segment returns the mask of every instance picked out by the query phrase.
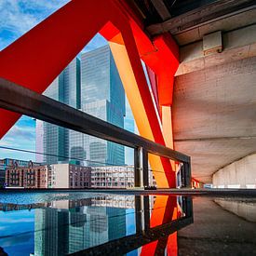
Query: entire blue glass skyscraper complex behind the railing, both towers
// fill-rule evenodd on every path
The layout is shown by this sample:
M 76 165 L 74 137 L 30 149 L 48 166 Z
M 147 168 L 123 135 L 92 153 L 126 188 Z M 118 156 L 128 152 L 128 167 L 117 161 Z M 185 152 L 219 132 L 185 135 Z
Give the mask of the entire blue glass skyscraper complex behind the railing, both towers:
M 125 92 L 109 46 L 74 59 L 44 94 L 124 128 Z M 61 155 L 91 160 L 88 166 L 125 164 L 124 146 L 42 121 L 36 122 L 36 151 L 47 154 L 36 157 L 47 164 L 67 160 Z

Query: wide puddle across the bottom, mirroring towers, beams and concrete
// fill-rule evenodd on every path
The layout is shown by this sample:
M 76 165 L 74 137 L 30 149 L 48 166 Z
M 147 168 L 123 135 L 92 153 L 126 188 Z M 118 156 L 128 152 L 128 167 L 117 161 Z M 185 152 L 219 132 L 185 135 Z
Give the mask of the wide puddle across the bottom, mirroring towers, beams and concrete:
M 44 196 L 0 204 L 0 255 L 256 254 L 253 198 Z

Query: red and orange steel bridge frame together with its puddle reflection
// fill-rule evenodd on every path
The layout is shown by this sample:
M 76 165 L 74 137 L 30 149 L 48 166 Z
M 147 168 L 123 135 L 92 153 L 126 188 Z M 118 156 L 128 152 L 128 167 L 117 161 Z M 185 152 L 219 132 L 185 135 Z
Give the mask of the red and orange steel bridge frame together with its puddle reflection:
M 141 136 L 172 147 L 170 107 L 179 49 L 169 34 L 151 40 L 124 1 L 69 2 L 0 52 L 0 76 L 43 93 L 98 32 L 110 42 Z M 162 123 L 158 122 L 141 60 L 155 74 Z M 0 139 L 19 118 L 19 114 L 0 109 Z M 150 155 L 149 160 L 153 168 L 163 170 L 161 174 L 155 172 L 158 187 L 175 187 L 175 165 L 159 156 Z M 167 202 L 166 197 L 157 196 L 155 204 L 160 204 L 162 209 L 153 211 L 153 226 L 175 218 L 176 205 Z M 176 234 L 169 236 L 170 243 L 174 243 L 174 250 L 168 250 L 177 254 Z M 145 254 L 148 249 L 154 253 L 156 248 L 157 243 L 150 244 L 141 253 Z

